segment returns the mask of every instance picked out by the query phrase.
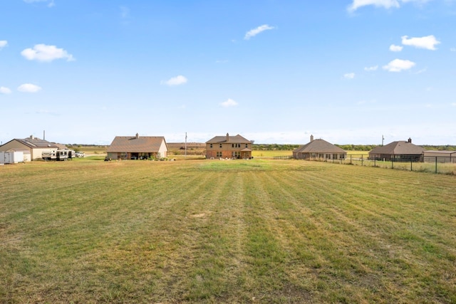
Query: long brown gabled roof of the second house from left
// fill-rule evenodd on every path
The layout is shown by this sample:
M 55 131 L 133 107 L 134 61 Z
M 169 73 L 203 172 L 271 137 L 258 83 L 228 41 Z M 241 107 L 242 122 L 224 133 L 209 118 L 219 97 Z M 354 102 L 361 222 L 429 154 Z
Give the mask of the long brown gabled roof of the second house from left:
M 116 136 L 106 152 L 160 152 L 165 137 L 162 136 Z

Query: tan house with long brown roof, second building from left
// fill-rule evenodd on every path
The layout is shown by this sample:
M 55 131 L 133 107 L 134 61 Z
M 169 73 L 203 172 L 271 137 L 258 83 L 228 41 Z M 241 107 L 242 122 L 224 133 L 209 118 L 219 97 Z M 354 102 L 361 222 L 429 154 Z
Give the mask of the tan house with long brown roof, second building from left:
M 110 159 L 149 159 L 168 156 L 168 146 L 162 136 L 116 136 L 106 150 Z

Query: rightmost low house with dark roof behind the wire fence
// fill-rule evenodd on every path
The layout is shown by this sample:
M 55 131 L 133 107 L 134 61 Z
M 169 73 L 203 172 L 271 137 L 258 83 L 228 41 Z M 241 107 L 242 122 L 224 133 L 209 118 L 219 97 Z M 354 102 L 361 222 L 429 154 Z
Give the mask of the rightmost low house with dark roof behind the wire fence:
M 425 150 L 413 145 L 412 139 L 390 142 L 388 145 L 375 147 L 369 152 L 369 159 L 392 160 L 394 162 L 422 162 Z

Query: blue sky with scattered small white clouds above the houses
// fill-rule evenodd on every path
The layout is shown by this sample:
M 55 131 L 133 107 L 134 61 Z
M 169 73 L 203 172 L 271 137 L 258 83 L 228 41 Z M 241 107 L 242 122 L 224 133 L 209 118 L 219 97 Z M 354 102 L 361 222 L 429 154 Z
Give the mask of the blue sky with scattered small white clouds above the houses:
M 0 141 L 456 145 L 456 0 L 8 0 Z

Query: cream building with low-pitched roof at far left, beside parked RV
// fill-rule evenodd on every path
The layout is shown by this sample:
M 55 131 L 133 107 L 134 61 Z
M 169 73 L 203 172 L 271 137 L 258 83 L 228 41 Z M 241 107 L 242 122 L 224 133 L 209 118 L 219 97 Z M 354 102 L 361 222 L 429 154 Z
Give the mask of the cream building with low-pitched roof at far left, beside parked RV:
M 30 135 L 24 139 L 14 139 L 0 146 L 0 152 L 23 152 L 24 162 L 42 159 L 43 152 L 50 152 L 57 149 L 66 149 L 64 145 L 41 140 Z

